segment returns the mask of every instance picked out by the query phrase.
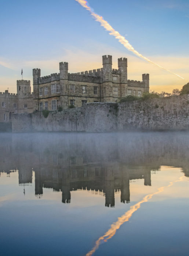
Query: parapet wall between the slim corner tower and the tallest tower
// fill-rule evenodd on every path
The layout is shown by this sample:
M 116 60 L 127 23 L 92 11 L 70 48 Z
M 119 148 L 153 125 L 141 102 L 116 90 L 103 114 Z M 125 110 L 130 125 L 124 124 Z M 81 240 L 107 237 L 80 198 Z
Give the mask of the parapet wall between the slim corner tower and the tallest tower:
M 91 83 L 100 83 L 101 77 L 100 76 L 91 76 L 87 74 L 81 73 L 68 73 L 68 80 L 70 81 L 78 81 L 78 82 L 91 82 Z

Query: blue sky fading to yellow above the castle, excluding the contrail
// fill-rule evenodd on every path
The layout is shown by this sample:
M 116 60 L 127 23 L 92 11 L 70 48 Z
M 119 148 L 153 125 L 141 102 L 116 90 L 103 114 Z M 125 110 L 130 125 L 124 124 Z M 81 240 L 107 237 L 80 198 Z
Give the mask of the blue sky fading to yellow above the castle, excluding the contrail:
M 189 82 L 188 0 L 88 0 L 92 10 L 123 35 L 143 56 L 177 73 L 182 80 L 124 48 L 76 0 L 0 0 L 0 91 L 16 93 L 16 81 L 102 68 L 102 55 L 128 59 L 128 79 L 150 74 L 150 90 L 181 89 Z

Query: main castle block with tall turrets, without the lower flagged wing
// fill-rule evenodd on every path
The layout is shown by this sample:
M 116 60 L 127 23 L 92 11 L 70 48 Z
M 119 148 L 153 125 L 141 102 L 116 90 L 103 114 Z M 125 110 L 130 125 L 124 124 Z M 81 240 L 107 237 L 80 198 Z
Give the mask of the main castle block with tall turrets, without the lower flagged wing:
M 59 73 L 41 77 L 40 69 L 33 69 L 33 90 L 38 111 L 63 109 L 85 103 L 117 102 L 127 95 L 142 96 L 149 92 L 149 74 L 142 82 L 127 80 L 127 59 L 118 59 L 118 69 L 112 69 L 112 56 L 102 56 L 103 68 L 68 73 L 68 62 L 59 63 Z

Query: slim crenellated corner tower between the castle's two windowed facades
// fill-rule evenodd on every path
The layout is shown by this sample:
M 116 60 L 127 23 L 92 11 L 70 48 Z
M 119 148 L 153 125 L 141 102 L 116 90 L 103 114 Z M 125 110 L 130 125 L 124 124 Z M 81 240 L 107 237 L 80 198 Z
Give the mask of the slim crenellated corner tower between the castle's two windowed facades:
M 60 87 L 63 95 L 68 95 L 68 62 L 59 63 L 60 70 Z M 63 108 L 69 106 L 68 96 L 61 96 L 61 103 Z

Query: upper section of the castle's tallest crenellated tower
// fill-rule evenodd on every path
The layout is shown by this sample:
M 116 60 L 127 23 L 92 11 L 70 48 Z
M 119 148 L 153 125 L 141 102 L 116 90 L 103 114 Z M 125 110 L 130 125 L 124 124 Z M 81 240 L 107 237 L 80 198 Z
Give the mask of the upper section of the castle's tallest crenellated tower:
M 112 82 L 112 56 L 102 56 L 103 82 Z

